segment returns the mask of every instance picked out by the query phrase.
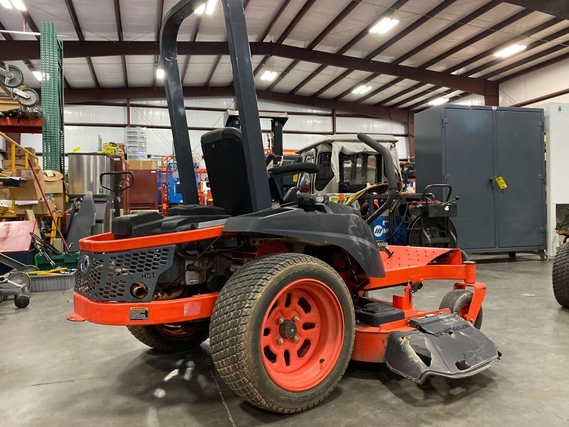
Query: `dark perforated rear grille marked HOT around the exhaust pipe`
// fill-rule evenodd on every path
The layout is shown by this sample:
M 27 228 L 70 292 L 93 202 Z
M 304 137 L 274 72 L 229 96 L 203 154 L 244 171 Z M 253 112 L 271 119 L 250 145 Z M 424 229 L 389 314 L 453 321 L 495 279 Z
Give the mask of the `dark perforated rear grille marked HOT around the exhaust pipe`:
M 144 282 L 149 298 L 152 296 L 156 278 L 172 265 L 174 246 L 105 254 L 81 252 L 80 263 L 84 255 L 89 256 L 90 266 L 85 274 L 75 275 L 77 292 L 102 301 L 131 301 L 129 289 L 135 282 Z

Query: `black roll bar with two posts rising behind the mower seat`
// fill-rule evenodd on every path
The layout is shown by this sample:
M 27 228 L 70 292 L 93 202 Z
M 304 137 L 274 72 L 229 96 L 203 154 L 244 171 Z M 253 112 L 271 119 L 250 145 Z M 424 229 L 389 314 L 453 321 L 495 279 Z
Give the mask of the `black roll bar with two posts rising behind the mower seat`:
M 205 2 L 206 0 L 181 0 L 176 3 L 164 17 L 160 30 L 160 55 L 162 56 L 164 70 L 164 89 L 166 89 L 172 138 L 178 159 L 180 186 L 185 204 L 199 203 L 199 200 L 193 170 L 188 122 L 185 116 L 184 92 L 178 69 L 176 40 L 183 20 L 193 14 Z M 251 67 L 245 11 L 241 0 L 220 0 L 220 2 L 225 17 L 229 57 L 233 69 L 237 109 L 241 118 L 245 164 L 249 177 L 253 210 L 260 211 L 271 207 L 271 196 L 265 167 L 261 122 L 259 121 L 257 93 L 255 92 L 253 68 Z

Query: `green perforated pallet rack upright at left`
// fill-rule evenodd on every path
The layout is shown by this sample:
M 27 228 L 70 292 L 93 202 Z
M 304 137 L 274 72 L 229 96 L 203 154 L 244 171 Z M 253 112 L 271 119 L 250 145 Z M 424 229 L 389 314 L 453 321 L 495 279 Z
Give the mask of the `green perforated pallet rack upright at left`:
M 57 25 L 40 23 L 42 60 L 43 169 L 65 172 L 63 121 L 63 42 L 57 39 Z

